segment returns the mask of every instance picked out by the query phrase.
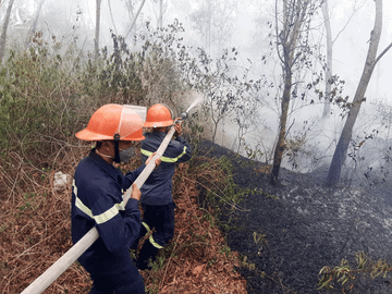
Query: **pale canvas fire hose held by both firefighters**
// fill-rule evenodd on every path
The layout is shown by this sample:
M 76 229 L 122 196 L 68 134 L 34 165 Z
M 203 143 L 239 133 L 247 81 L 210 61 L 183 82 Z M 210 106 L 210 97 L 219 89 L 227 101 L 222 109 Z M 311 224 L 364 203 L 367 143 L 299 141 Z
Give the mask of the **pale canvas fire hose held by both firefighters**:
M 181 118 L 175 123 L 186 120 L 188 117 L 187 112 L 181 113 Z M 143 172 L 135 180 L 135 184 L 138 188 L 143 186 L 147 177 L 156 168 L 156 159 L 161 158 L 171 138 L 174 135 L 175 128 L 170 127 L 161 145 L 159 146 L 156 155 L 152 157 L 150 162 L 146 166 Z M 131 198 L 132 186 L 125 192 L 123 196 L 124 206 L 126 206 Z M 57 278 L 59 278 L 76 259 L 88 249 L 89 246 L 99 237 L 98 230 L 94 226 L 89 230 L 76 244 L 74 244 L 62 257 L 60 257 L 50 268 L 48 268 L 41 275 L 39 275 L 33 283 L 30 283 L 21 294 L 35 294 L 42 293 Z

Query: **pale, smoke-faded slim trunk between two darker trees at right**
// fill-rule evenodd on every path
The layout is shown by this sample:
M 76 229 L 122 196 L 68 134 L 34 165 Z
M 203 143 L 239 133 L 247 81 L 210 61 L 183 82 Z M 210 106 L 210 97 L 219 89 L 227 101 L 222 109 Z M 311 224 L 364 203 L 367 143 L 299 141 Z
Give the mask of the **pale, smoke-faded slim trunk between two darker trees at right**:
M 326 94 L 324 94 L 324 107 L 322 111 L 322 118 L 326 118 L 331 111 L 331 84 L 329 83 L 332 77 L 332 33 L 331 23 L 328 12 L 328 0 L 321 4 L 322 16 L 324 20 L 326 33 L 327 33 L 327 69 L 326 69 Z

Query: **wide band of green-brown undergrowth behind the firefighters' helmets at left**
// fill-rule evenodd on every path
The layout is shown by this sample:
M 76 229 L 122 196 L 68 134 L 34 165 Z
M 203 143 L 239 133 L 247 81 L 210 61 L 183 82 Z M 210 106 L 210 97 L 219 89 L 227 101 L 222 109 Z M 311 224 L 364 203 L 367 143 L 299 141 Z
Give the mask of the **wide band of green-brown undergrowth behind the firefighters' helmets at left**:
M 173 57 L 163 51 L 174 46 L 171 38 L 176 29 L 162 30 L 169 37 L 157 35 L 161 42 L 154 44 L 154 49 L 146 45 L 140 52 L 131 52 L 113 34 L 113 51 L 103 48 L 98 59 L 72 45 L 60 50 L 54 36 L 53 44 L 48 44 L 41 34 L 28 51 L 11 51 L 0 69 L 0 148 L 22 152 L 32 161 L 48 150 L 64 156 L 62 143 L 72 142 L 98 107 L 109 102 L 149 106 L 157 97 L 172 100 L 161 94 L 176 93 L 181 83 Z M 166 85 L 172 85 L 170 90 Z M 154 87 L 159 94 L 154 94 Z

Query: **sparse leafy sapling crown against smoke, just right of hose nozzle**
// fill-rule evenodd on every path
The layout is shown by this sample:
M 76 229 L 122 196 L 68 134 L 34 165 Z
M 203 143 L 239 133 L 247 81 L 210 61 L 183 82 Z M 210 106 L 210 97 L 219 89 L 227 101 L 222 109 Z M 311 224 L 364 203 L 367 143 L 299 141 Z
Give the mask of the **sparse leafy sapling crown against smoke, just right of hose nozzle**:
M 259 124 L 257 117 L 264 100 L 261 90 L 268 83 L 265 76 L 256 81 L 249 78 L 249 68 L 237 68 L 238 57 L 235 48 L 224 49 L 218 59 L 211 59 L 203 48 L 197 49 L 194 88 L 201 93 L 203 112 L 213 123 L 212 142 L 224 119 L 238 126 L 238 139 Z

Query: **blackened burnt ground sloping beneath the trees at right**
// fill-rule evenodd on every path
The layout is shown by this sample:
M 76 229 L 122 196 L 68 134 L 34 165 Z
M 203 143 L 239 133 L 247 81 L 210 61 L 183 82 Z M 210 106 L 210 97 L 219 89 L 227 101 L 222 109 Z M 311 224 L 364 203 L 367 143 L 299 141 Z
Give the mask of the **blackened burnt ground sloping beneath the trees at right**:
M 248 293 L 392 293 L 391 275 L 357 275 L 333 290 L 318 290 L 319 271 L 342 259 L 356 268 L 356 253 L 391 264 L 392 198 L 389 183 L 363 187 L 326 187 L 324 174 L 281 169 L 280 183 L 269 184 L 262 164 L 229 149 L 204 144 L 213 157 L 226 156 L 244 197 L 244 210 L 225 210 L 219 219 L 228 245 L 249 265 L 241 274 Z M 212 148 L 212 149 L 211 149 Z M 365 179 L 365 177 L 364 177 Z M 255 265 L 253 268 L 252 264 Z M 353 285 L 354 284 L 354 285 Z

